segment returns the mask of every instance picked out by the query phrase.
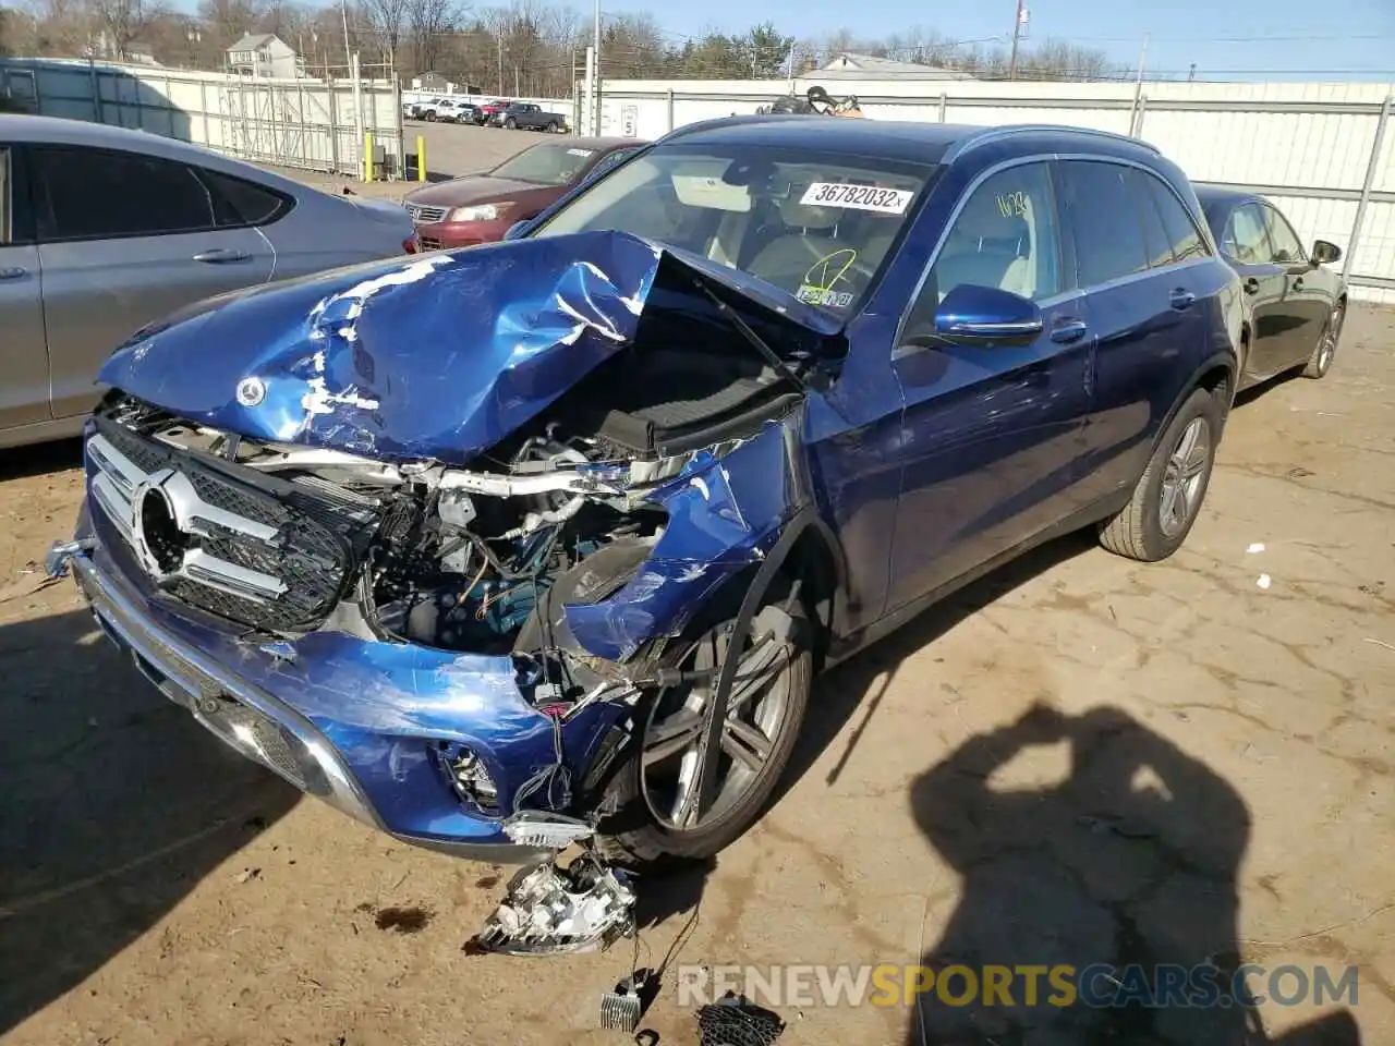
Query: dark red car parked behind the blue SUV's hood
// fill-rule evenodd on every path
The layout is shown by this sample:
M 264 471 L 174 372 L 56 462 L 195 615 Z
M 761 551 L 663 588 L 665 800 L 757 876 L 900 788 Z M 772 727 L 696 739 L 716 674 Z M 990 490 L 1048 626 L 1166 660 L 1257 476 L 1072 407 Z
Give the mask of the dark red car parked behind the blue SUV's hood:
M 635 138 L 568 138 L 540 142 L 484 174 L 466 174 L 403 198 L 423 250 L 502 240 L 509 226 L 534 218 L 564 192 L 600 176 L 646 142 Z

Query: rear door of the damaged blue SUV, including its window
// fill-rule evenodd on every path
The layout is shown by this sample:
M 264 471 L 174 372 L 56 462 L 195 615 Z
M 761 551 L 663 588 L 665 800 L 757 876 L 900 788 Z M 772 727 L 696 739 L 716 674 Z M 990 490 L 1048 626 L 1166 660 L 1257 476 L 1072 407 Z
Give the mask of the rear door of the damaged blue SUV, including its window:
M 1106 158 L 1060 169 L 1094 338 L 1081 463 L 1091 503 L 1137 483 L 1177 396 L 1179 358 L 1205 336 L 1205 305 L 1194 272 L 1175 261 L 1154 174 Z M 1165 183 L 1156 190 L 1176 199 Z

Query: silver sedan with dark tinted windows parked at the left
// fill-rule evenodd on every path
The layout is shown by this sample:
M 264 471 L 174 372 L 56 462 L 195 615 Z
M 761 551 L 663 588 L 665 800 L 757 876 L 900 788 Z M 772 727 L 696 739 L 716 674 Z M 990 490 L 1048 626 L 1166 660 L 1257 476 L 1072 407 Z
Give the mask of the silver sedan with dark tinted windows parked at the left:
M 80 432 L 112 346 L 190 301 L 416 248 L 389 201 L 142 131 L 0 116 L 0 446 Z

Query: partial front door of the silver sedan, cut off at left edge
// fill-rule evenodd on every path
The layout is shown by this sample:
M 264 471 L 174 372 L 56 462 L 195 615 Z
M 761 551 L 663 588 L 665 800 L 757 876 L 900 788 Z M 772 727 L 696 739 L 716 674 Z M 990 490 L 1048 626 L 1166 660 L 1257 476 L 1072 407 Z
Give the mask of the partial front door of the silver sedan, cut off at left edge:
M 0 428 L 50 417 L 42 287 L 24 155 L 0 144 Z

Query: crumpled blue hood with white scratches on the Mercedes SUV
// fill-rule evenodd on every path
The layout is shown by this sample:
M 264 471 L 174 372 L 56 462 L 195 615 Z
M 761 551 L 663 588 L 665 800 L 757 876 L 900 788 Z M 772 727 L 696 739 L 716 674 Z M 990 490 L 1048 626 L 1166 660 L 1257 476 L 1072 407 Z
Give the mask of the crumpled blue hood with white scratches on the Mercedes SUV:
M 841 328 L 706 259 L 578 233 L 223 294 L 138 332 L 99 381 L 246 437 L 465 463 L 632 344 L 646 310 L 710 311 L 695 278 L 777 350 Z

